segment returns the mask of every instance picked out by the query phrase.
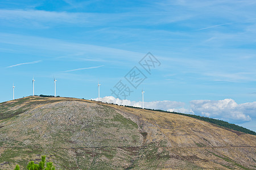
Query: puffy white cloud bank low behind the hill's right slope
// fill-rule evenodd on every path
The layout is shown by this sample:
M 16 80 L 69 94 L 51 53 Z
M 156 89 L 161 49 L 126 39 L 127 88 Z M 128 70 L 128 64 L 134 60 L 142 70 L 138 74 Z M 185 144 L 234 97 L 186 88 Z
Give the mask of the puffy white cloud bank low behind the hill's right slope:
M 91 99 L 98 100 L 98 98 Z M 101 97 L 100 101 L 106 103 L 114 103 L 118 105 L 130 105 L 142 108 L 142 101 L 130 101 L 115 98 L 113 96 Z M 200 116 L 217 118 L 227 122 L 235 122 L 236 124 L 246 124 L 251 121 L 251 117 L 255 117 L 254 111 L 256 101 L 252 103 L 237 104 L 232 99 L 224 100 L 192 100 L 190 105 L 178 101 L 148 101 L 144 102 L 144 107 L 148 109 L 160 109 L 168 112 L 178 112 L 185 114 L 197 114 Z M 213 112 L 212 112 L 213 111 Z M 249 129 L 256 130 L 256 125 L 251 124 Z

